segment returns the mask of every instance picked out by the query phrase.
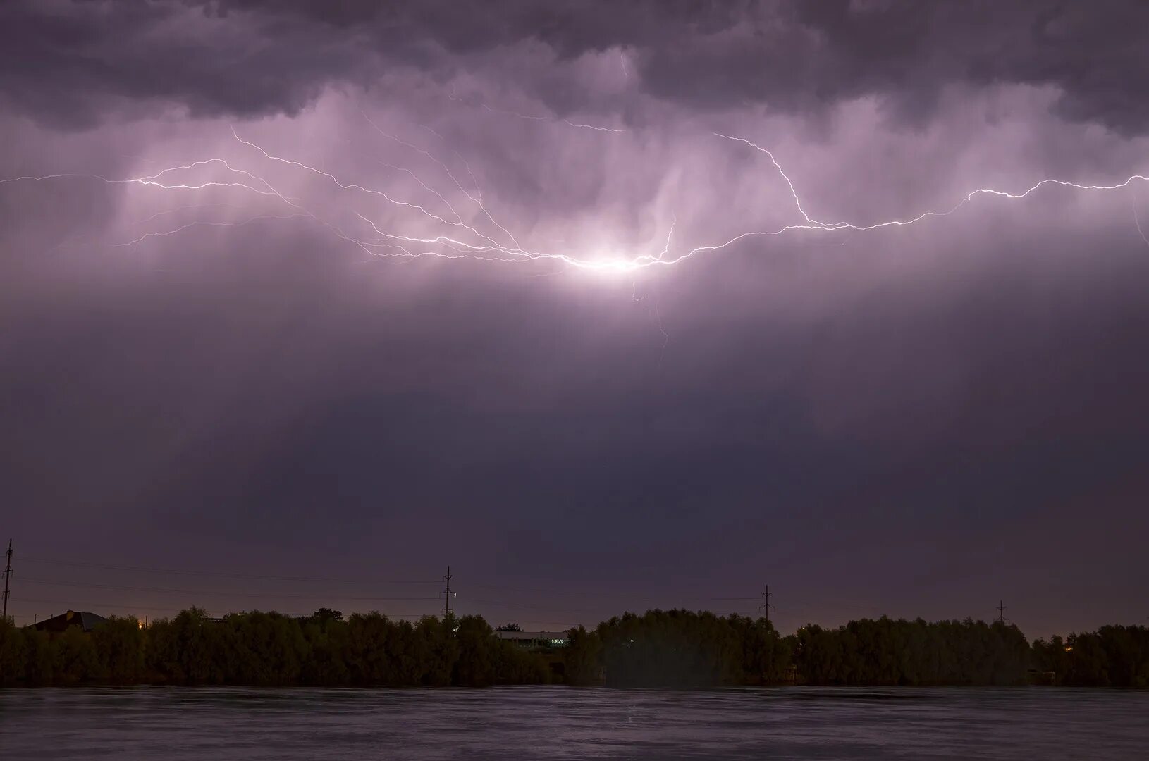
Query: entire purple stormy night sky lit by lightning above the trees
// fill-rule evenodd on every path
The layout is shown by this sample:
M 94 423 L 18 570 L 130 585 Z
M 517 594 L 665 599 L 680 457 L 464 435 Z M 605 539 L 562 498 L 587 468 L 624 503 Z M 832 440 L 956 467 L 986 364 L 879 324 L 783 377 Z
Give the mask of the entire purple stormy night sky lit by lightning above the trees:
M 1146 30 L 3 2 L 9 612 L 1144 622 Z

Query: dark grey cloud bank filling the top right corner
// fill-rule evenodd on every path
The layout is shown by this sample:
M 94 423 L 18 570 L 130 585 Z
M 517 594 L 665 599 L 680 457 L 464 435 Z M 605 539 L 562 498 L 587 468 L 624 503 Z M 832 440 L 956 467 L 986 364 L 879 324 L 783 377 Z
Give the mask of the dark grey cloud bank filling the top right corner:
M 1125 0 L 793 2 L 651 45 L 643 75 L 654 94 L 711 107 L 803 111 L 877 95 L 916 121 L 947 86 L 1048 85 L 1063 117 L 1140 133 L 1147 25 L 1149 7 Z

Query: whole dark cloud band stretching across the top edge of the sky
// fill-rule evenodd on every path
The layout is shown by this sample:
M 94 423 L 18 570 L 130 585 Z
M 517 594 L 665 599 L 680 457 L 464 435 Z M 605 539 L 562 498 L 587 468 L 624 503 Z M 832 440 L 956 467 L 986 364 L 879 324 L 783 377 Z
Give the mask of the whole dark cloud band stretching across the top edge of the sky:
M 386 72 L 448 77 L 538 41 L 558 75 L 523 86 L 558 112 L 614 108 L 558 85 L 563 61 L 626 47 L 649 94 L 696 107 L 816 112 L 876 95 L 928 118 L 948 86 L 1059 92 L 1056 112 L 1123 133 L 1149 126 L 1149 7 L 1098 2 L 268 2 L 21 0 L 0 9 L 0 91 L 39 119 L 87 125 L 108 96 L 192 115 L 296 112 L 324 86 Z M 506 76 L 506 73 L 503 75 Z M 154 104 L 153 104 L 154 106 Z

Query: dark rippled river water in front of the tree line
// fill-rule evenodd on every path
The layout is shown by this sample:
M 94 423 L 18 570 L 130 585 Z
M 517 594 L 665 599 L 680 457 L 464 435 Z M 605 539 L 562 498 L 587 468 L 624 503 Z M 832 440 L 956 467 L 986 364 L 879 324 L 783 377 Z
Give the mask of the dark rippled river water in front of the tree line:
M 1149 692 L 0 690 L 0 758 L 1149 759 Z

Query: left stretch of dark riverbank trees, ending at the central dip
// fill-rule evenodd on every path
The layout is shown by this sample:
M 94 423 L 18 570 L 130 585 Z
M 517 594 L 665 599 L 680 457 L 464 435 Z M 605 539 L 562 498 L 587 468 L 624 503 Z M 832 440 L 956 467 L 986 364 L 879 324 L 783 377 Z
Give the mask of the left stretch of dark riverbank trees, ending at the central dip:
M 217 621 L 190 608 L 147 628 L 111 618 L 91 634 L 59 635 L 0 623 L 0 684 L 486 686 L 546 683 L 549 671 L 478 616 L 411 623 L 321 609 Z

